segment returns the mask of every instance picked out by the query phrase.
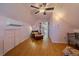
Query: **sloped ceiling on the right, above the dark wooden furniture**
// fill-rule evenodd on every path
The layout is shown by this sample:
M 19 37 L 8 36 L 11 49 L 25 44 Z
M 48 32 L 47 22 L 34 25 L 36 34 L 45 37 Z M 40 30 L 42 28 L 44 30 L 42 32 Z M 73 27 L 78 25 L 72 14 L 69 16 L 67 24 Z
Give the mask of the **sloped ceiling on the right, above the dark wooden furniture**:
M 71 25 L 73 28 L 79 28 L 79 4 L 78 3 L 60 3 L 60 4 L 50 4 L 54 6 L 54 12 L 59 11 L 63 13 L 63 22 Z M 53 13 L 54 15 L 54 13 Z

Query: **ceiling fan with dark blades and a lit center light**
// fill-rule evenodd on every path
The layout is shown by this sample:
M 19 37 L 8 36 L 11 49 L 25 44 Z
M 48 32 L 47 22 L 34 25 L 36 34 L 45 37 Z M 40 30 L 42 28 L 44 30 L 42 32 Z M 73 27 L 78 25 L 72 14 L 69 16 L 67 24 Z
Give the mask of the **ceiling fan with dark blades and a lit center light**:
M 38 14 L 40 12 L 43 12 L 44 15 L 46 15 L 46 11 L 54 10 L 54 7 L 46 7 L 46 6 L 47 6 L 47 3 L 42 3 L 38 7 L 37 6 L 34 6 L 34 5 L 31 5 L 32 8 L 37 9 L 37 11 L 35 12 L 35 14 Z

